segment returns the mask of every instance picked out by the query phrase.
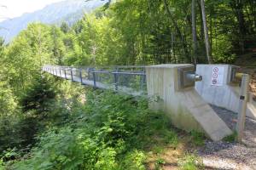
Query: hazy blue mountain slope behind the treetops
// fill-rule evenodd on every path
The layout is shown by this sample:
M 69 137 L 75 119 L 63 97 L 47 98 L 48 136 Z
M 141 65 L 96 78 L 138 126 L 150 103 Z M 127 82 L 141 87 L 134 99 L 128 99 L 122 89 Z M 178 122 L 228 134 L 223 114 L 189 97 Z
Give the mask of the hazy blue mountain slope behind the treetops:
M 73 22 L 82 18 L 84 13 L 90 13 L 107 2 L 108 0 L 91 0 L 89 2 L 65 0 L 60 3 L 52 3 L 33 13 L 23 14 L 15 19 L 0 22 L 0 37 L 3 37 L 6 42 L 10 42 L 32 22 L 59 24 L 61 21 L 67 21 L 69 24 L 73 24 Z

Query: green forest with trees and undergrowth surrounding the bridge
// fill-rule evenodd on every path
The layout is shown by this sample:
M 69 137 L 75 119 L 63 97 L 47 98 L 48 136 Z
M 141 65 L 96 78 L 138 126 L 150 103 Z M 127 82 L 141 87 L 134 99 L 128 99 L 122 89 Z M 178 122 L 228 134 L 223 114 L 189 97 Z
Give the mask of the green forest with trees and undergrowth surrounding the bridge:
M 201 133 L 172 127 L 143 98 L 84 88 L 42 67 L 235 64 L 255 54 L 255 0 L 202 2 L 109 1 L 73 26 L 32 23 L 12 42 L 1 38 L 0 169 L 161 169 L 165 147 L 201 145 Z M 194 152 L 176 158 L 179 169 L 203 169 Z

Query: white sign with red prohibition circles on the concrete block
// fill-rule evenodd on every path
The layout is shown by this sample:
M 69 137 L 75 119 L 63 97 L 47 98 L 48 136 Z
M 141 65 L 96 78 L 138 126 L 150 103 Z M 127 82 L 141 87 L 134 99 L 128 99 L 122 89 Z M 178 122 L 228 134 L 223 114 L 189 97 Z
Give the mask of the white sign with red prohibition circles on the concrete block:
M 224 66 L 215 66 L 212 68 L 212 86 L 223 86 Z

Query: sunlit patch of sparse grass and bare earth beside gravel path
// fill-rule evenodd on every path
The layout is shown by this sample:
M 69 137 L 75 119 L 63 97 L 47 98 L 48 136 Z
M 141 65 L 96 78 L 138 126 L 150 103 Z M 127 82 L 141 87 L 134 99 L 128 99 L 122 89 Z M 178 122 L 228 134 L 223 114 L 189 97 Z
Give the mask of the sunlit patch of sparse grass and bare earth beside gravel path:
M 164 140 L 154 144 L 154 148 L 149 149 L 147 153 L 147 169 L 177 169 L 177 170 L 194 170 L 204 169 L 201 159 L 194 151 L 198 145 L 204 144 L 204 135 L 201 133 L 185 133 L 181 130 L 175 131 L 177 140 L 175 147 L 170 143 L 163 143 Z

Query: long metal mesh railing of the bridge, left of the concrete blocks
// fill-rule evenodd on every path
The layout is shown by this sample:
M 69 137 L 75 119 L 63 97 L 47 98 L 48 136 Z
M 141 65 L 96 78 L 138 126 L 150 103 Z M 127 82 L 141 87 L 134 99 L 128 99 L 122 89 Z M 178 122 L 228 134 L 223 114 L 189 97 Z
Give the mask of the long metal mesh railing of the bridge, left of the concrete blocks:
M 145 66 L 95 68 L 44 65 L 43 71 L 94 88 L 113 89 L 131 95 L 147 93 Z

